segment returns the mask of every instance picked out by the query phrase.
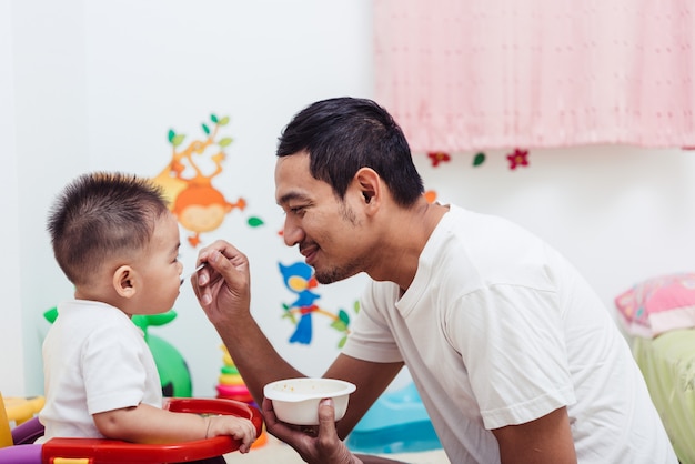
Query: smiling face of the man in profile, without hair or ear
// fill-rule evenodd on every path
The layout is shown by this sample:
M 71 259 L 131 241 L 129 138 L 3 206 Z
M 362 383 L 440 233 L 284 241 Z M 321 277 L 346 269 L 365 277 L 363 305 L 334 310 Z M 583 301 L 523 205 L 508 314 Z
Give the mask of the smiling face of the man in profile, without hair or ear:
M 340 201 L 331 185 L 314 179 L 308 154 L 278 158 L 275 200 L 285 212 L 284 241 L 288 246 L 299 245 L 321 283 L 364 271 L 360 246 L 363 219 L 360 209 L 351 206 L 353 195 L 349 189 L 344 201 Z

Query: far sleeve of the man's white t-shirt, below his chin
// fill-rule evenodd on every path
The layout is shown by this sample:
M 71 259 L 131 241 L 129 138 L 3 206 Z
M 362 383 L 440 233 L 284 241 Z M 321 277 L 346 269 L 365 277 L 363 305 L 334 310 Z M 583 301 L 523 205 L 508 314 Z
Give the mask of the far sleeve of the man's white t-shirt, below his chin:
M 402 362 L 403 356 L 391 334 L 381 304 L 393 304 L 392 285 L 371 282 L 361 300 L 360 313 L 352 323 L 343 353 L 359 360 L 376 363 Z

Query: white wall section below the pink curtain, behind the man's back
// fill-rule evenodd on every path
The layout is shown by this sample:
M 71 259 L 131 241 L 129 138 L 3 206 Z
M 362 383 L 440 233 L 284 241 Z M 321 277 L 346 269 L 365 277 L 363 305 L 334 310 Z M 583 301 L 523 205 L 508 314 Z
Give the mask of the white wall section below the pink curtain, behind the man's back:
M 510 150 L 511 151 L 511 150 Z M 562 251 L 606 305 L 634 283 L 695 270 L 695 152 L 577 147 L 531 150 L 508 169 L 506 151 L 473 153 L 432 168 L 425 186 L 469 209 L 508 218 Z

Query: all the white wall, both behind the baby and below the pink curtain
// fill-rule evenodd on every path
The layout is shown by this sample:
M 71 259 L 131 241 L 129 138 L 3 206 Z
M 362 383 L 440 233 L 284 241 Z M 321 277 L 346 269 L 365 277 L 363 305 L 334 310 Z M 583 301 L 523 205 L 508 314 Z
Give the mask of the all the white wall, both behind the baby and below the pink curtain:
M 214 183 L 249 205 L 203 242 L 225 238 L 246 252 L 254 314 L 282 353 L 308 374 L 320 374 L 336 353 L 338 334 L 316 316 L 312 344 L 291 345 L 293 326 L 282 319 L 281 304 L 293 295 L 278 262 L 300 256 L 278 236 L 283 216 L 273 196 L 274 149 L 284 124 L 312 101 L 373 97 L 371 2 L 53 3 L 0 0 L 0 69 L 11 70 L 0 74 L 0 137 L 10 153 L 0 186 L 8 205 L 0 236 L 7 304 L 0 313 L 0 391 L 42 392 L 40 344 L 48 323 L 41 314 L 71 296 L 44 232 L 53 195 L 88 170 L 155 175 L 169 161 L 169 129 L 195 137 L 211 112 L 231 117 L 225 131 L 234 138 Z M 433 168 L 419 153 L 416 163 L 440 200 L 505 215 L 546 238 L 607 306 L 636 281 L 691 270 L 695 153 L 532 150 L 531 165 L 515 171 L 504 151 L 488 152 L 479 168 L 473 154 L 456 153 Z M 246 225 L 251 215 L 265 225 Z M 182 246 L 189 270 L 195 253 Z M 363 282 L 357 276 L 320 288 L 322 306 L 351 312 Z M 188 286 L 175 310 L 179 317 L 152 333 L 182 352 L 194 394 L 212 395 L 219 337 Z

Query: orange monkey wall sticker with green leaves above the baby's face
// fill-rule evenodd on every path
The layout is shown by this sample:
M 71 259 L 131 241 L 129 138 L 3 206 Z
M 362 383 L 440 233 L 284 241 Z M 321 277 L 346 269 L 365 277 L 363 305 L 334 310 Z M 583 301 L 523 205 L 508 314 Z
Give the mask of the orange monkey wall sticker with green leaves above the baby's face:
M 220 129 L 229 123 L 229 117 L 210 115 L 210 122 L 201 124 L 202 137 L 184 144 L 185 135 L 169 131 L 171 160 L 152 181 L 164 190 L 171 211 L 179 223 L 191 232 L 191 246 L 200 244 L 200 234 L 218 229 L 234 208 L 243 210 L 246 201 L 239 198 L 229 202 L 212 185 L 212 179 L 222 173 L 226 148 L 232 138 L 222 137 Z

